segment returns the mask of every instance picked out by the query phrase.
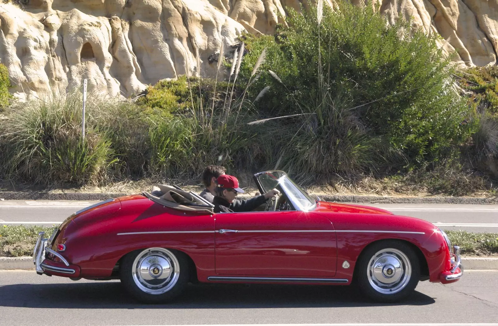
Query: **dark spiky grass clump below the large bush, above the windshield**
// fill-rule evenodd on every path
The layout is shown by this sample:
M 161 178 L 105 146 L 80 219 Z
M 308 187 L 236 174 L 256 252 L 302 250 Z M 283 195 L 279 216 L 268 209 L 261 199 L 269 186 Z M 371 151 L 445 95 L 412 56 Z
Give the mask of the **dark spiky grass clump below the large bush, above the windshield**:
M 305 184 L 329 182 L 337 174 L 354 175 L 392 162 L 397 156 L 388 141 L 371 137 L 351 110 L 351 101 L 327 95 L 321 103 L 301 105 L 306 115 L 277 119 L 259 127 L 266 142 L 264 168 L 282 168 Z

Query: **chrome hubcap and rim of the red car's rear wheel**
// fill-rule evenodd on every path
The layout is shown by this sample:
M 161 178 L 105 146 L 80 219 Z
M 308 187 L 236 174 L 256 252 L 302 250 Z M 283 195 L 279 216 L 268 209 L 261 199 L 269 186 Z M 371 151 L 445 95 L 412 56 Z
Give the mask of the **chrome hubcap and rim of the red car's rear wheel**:
M 140 290 L 148 294 L 162 294 L 178 281 L 180 264 L 171 251 L 149 248 L 136 256 L 131 273 Z

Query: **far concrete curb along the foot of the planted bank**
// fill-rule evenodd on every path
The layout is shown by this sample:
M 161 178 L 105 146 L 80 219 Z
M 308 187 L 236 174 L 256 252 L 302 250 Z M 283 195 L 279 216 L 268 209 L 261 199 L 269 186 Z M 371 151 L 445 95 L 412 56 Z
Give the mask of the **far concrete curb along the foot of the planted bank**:
M 100 193 L 100 192 L 63 192 L 63 191 L 0 191 L 0 198 L 4 200 L 106 200 L 128 195 L 129 193 Z M 498 204 L 498 196 L 494 197 L 396 197 L 370 195 L 319 195 L 321 200 L 358 203 L 387 203 L 387 204 Z M 317 195 L 313 195 L 317 198 Z M 240 199 L 250 196 L 241 195 Z

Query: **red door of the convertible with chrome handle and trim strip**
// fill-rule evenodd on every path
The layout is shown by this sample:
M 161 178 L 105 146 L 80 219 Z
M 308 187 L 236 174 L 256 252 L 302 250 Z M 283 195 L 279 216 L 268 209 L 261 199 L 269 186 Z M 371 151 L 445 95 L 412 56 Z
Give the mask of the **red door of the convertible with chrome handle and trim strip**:
M 336 273 L 334 226 L 312 211 L 217 213 L 215 230 L 219 275 L 329 277 Z

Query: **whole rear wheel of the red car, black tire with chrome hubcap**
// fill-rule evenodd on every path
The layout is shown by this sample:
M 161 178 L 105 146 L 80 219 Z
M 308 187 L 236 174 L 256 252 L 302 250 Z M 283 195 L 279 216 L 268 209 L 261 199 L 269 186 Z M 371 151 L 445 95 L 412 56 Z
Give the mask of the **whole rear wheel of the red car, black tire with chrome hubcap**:
M 140 265 L 146 269 L 140 270 Z M 165 248 L 135 250 L 124 256 L 120 279 L 136 300 L 167 303 L 176 298 L 188 283 L 188 260 L 184 253 Z

